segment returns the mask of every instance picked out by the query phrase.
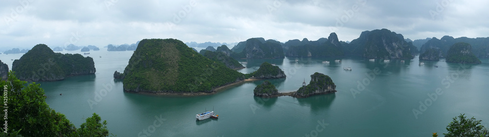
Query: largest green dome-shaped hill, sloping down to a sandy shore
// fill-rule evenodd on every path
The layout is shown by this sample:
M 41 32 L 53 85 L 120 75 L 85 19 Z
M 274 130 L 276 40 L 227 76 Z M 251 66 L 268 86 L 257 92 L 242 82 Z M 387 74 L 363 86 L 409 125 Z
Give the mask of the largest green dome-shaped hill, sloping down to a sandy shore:
M 124 73 L 126 92 L 211 92 L 244 75 L 207 59 L 177 39 L 143 39 Z

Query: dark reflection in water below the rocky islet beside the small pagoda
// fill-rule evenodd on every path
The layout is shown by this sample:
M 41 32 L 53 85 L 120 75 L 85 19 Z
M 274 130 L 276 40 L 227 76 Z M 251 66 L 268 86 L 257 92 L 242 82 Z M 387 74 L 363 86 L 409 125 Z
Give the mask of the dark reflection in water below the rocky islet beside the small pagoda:
M 334 98 L 336 98 L 336 94 L 332 93 L 316 95 L 309 98 L 297 98 L 297 101 L 299 101 L 299 105 L 309 106 L 311 107 L 312 112 L 317 113 L 323 109 L 329 108 L 333 103 Z

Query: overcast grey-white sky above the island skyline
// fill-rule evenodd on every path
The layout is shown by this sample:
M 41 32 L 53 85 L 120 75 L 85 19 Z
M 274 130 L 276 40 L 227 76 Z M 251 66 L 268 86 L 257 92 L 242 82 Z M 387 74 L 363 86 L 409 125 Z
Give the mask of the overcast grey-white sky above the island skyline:
M 343 41 L 387 28 L 410 39 L 489 37 L 488 0 L 2 0 L 0 50 L 150 38 Z

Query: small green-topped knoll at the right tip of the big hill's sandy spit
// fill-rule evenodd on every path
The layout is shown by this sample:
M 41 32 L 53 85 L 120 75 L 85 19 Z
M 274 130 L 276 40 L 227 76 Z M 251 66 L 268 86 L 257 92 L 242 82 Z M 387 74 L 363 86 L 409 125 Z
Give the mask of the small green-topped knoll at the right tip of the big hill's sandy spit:
M 268 62 L 263 62 L 257 71 L 245 74 L 245 78 L 285 78 L 287 77 L 278 66 L 274 66 Z

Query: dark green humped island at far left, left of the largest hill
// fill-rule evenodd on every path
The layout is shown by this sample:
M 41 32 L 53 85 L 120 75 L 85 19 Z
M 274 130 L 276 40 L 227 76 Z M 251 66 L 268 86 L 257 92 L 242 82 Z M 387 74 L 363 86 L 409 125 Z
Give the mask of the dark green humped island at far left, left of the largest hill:
M 53 81 L 68 76 L 94 74 L 91 57 L 80 54 L 54 53 L 47 45 L 38 44 L 12 63 L 12 71 L 21 80 Z

